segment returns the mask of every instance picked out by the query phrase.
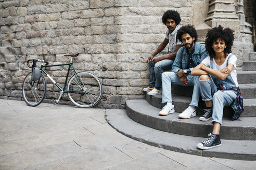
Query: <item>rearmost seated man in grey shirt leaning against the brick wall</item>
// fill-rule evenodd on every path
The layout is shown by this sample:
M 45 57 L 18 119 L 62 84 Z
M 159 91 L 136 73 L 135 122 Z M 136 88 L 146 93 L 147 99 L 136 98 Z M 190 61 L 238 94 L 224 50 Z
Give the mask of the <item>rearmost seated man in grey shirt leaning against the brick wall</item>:
M 176 52 L 182 47 L 180 40 L 176 38 L 176 34 L 180 27 L 178 24 L 181 22 L 180 14 L 174 10 L 164 12 L 162 16 L 162 23 L 167 26 L 165 38 L 158 46 L 157 50 L 148 58 L 150 83 L 149 87 L 144 88 L 144 91 L 149 91 L 149 95 L 156 95 L 162 93 L 162 79 L 161 75 L 165 70 L 171 70 L 174 62 Z M 160 53 L 169 43 L 168 55 L 156 56 Z

